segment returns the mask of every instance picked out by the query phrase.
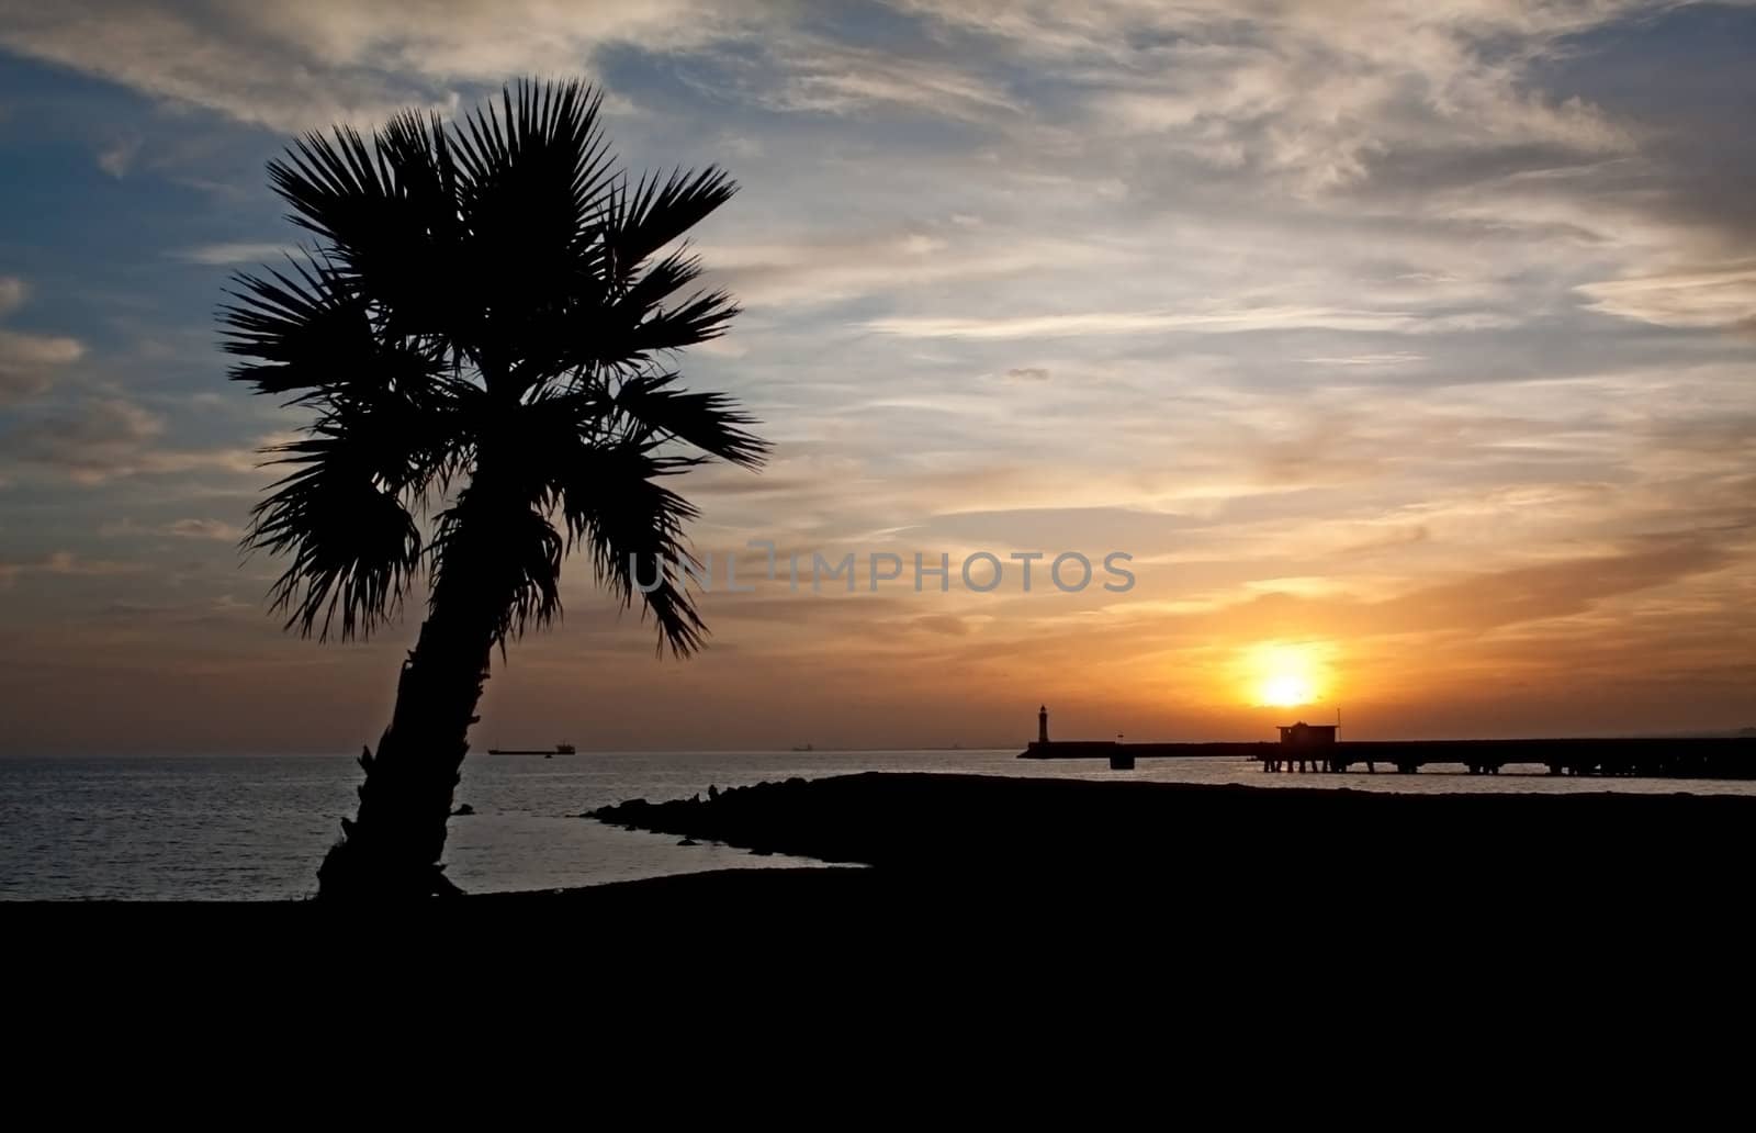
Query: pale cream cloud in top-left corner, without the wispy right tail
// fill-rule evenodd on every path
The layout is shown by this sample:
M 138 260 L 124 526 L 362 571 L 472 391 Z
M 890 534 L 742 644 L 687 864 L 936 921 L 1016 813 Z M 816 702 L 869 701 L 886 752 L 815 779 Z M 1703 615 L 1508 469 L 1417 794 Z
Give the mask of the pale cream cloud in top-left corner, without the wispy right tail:
M 706 0 L 0 0 L 0 46 L 276 130 L 446 109 L 458 86 L 571 76 L 618 44 L 688 49 L 760 16 Z

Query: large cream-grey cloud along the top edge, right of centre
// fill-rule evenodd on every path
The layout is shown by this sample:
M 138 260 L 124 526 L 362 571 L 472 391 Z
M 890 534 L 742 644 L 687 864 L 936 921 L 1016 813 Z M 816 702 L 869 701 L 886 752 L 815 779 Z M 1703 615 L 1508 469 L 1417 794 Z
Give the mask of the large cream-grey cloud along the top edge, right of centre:
M 1582 162 L 1633 146 L 1598 107 L 1545 98 L 1526 81 L 1533 61 L 1619 19 L 1631 0 L 908 7 L 1018 67 L 1071 79 L 1080 126 L 1112 144 L 1245 170 L 1303 195 L 1345 191 L 1410 155 L 1540 146 Z

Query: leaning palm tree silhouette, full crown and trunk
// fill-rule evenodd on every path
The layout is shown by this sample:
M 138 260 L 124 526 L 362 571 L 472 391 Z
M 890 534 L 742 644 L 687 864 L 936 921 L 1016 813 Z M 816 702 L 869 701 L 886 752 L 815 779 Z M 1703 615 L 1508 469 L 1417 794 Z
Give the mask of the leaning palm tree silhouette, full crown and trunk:
M 639 594 L 660 653 L 702 645 L 676 571 L 695 509 L 666 481 L 715 457 L 753 469 L 767 446 L 667 362 L 738 313 L 692 288 L 680 242 L 736 186 L 713 167 L 630 184 L 599 107 L 525 81 L 451 125 L 337 126 L 269 163 L 314 246 L 237 274 L 220 318 L 232 378 L 311 420 L 269 450 L 290 471 L 244 546 L 290 557 L 270 603 L 320 639 L 369 636 L 427 585 L 320 896 L 457 892 L 439 855 L 492 653 L 560 615 L 574 548 L 623 608 Z

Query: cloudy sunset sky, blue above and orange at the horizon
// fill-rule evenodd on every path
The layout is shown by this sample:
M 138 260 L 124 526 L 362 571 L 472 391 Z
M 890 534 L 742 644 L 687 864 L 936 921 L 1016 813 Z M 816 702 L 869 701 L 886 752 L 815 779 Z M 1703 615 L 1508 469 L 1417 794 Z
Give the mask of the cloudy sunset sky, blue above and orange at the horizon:
M 1751 58 L 1744 4 L 0 0 L 0 754 L 376 743 L 418 606 L 267 613 L 300 418 L 214 307 L 293 134 L 525 74 L 739 181 L 680 369 L 774 457 L 687 481 L 704 653 L 576 562 L 478 748 L 1756 724 Z

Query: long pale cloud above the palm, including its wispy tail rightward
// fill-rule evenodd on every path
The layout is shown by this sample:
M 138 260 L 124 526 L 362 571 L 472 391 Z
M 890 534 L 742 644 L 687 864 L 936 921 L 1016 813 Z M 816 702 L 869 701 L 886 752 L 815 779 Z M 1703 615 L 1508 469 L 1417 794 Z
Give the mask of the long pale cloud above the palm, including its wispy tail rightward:
M 1020 111 L 1004 84 L 948 51 L 813 35 L 790 5 L 762 0 L 307 0 L 297 16 L 172 0 L 0 0 L 0 44 L 12 51 L 276 130 L 376 121 L 404 105 L 453 109 L 465 90 L 520 74 L 590 74 L 599 53 L 629 46 L 715 49 L 718 77 L 788 112 Z

